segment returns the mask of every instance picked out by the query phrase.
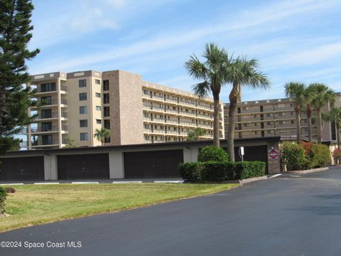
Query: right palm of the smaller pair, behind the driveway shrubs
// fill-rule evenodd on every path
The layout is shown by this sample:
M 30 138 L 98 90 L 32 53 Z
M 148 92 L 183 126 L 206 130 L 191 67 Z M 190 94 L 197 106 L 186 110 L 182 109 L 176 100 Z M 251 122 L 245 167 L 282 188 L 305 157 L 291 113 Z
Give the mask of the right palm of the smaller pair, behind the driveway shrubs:
M 321 110 L 328 103 L 335 102 L 335 92 L 330 89 L 327 85 L 321 83 L 312 83 L 309 85 L 309 90 L 314 93 L 311 105 L 315 107 L 318 116 L 318 143 L 322 143 L 322 114 Z

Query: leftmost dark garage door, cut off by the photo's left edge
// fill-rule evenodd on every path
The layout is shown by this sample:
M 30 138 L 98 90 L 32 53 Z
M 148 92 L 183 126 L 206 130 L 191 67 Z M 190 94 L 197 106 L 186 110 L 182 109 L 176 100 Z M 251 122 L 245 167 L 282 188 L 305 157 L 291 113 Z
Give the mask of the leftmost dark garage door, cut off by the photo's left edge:
M 40 181 L 44 179 L 44 157 L 0 159 L 0 181 Z M 1 167 L 2 166 L 2 167 Z

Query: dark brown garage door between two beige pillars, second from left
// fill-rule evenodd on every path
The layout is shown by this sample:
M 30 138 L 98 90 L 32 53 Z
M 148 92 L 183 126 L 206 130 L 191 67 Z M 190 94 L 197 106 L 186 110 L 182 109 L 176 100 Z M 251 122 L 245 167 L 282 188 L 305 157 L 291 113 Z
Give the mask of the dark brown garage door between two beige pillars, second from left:
M 58 156 L 58 179 L 109 178 L 109 154 Z

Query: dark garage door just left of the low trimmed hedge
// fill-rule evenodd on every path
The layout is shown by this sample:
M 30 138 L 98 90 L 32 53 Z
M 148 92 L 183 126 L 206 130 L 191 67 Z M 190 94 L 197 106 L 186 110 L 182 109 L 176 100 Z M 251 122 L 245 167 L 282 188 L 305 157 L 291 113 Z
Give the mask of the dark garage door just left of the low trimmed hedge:
M 183 149 L 124 153 L 125 178 L 180 177 Z

